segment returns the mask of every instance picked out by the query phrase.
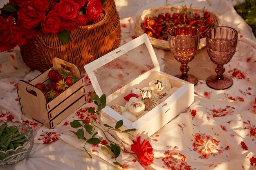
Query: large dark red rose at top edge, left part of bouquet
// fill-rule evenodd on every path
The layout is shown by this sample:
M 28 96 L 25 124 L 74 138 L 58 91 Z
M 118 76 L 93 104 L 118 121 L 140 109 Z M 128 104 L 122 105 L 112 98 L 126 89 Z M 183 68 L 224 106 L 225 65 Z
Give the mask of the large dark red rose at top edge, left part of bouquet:
M 26 1 L 20 6 L 17 12 L 18 21 L 21 22 L 26 29 L 35 28 L 41 20 L 45 19 L 45 11 L 38 11 L 38 9 L 40 9 L 40 7 L 38 7 L 36 0 Z

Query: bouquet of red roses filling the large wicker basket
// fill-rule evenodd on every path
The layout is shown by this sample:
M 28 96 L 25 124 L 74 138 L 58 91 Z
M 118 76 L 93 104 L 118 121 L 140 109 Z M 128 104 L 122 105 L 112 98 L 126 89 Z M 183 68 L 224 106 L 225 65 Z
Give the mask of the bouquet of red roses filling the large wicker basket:
M 9 0 L 0 9 L 0 51 L 40 34 L 58 33 L 65 43 L 76 25 L 96 21 L 105 0 Z

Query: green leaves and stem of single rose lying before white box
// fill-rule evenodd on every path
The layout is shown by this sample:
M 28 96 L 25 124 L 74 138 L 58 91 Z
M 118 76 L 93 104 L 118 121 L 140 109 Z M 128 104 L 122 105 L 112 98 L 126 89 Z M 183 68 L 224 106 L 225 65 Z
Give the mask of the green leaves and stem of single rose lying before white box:
M 106 95 L 103 94 L 101 95 L 101 97 L 99 97 L 98 95 L 92 93 L 90 95 L 91 99 L 93 100 L 94 104 L 97 105 L 97 110 L 94 110 L 92 108 L 87 108 L 89 113 L 93 113 L 93 114 L 100 114 L 100 111 L 105 108 L 106 106 Z M 79 128 L 77 130 L 77 132 L 74 132 L 72 130 L 70 130 L 71 132 L 73 132 L 78 139 L 83 139 L 85 140 L 85 145 L 87 143 L 89 144 L 99 144 L 101 142 L 101 140 L 103 139 L 102 137 L 96 137 L 96 135 L 98 134 L 98 132 L 94 132 L 95 128 L 98 128 L 101 132 L 103 132 L 104 137 L 106 138 L 106 140 L 110 143 L 110 145 L 106 145 L 103 146 L 101 145 L 101 150 L 106 152 L 108 155 L 112 156 L 115 158 L 119 157 L 120 153 L 121 153 L 121 147 L 119 146 L 119 144 L 115 143 L 114 141 L 111 141 L 110 139 L 108 139 L 106 132 L 110 131 L 110 130 L 115 130 L 117 132 L 120 133 L 128 133 L 128 132 L 132 132 L 135 131 L 136 129 L 127 129 L 127 130 L 123 130 L 121 131 L 121 126 L 123 126 L 123 120 L 119 120 L 117 121 L 117 123 L 115 124 L 115 128 L 113 128 L 112 126 L 109 126 L 108 124 L 104 124 L 105 127 L 108 128 L 108 130 L 104 130 L 102 129 L 100 126 L 97 126 L 96 124 L 94 124 L 94 120 L 93 119 L 85 119 L 85 120 L 74 120 L 72 122 L 70 122 L 70 126 L 72 128 Z M 88 139 L 85 138 L 85 132 L 87 132 L 89 134 L 90 137 L 88 137 Z M 128 133 L 130 134 L 130 133 Z M 130 134 L 131 135 L 131 134 Z M 85 149 L 85 152 L 88 153 L 89 157 L 92 157 L 90 155 L 90 153 L 86 150 L 85 145 L 83 146 L 83 148 Z M 121 166 L 121 163 L 117 162 L 113 162 L 115 165 Z

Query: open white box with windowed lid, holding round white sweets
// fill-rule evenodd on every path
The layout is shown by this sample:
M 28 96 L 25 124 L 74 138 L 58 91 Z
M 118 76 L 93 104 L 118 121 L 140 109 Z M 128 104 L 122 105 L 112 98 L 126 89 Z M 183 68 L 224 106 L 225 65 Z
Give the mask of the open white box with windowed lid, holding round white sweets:
M 130 53 L 130 55 L 127 55 L 128 53 Z M 127 58 L 127 56 L 129 58 Z M 128 60 L 131 62 L 128 63 Z M 117 61 L 119 61 L 119 64 L 117 64 Z M 150 62 L 151 65 L 148 65 L 148 62 Z M 141 63 L 146 64 L 143 65 Z M 127 75 L 127 77 L 125 77 L 126 79 L 120 79 L 115 82 L 113 75 L 116 75 L 115 71 L 120 72 L 120 70 L 116 69 L 115 71 L 112 71 L 112 73 L 108 73 L 107 66 L 112 66 L 114 69 L 115 67 L 121 67 L 123 68 L 122 70 L 127 68 L 125 70 L 129 70 L 128 73 L 124 73 Z M 103 124 L 115 127 L 117 121 L 123 119 L 124 124 L 121 127 L 121 130 L 132 128 L 136 128 L 137 130 L 130 132 L 131 135 L 116 131 L 109 132 L 125 143 L 132 144 L 132 140 L 136 139 L 139 135 L 141 136 L 141 140 L 147 139 L 153 135 L 157 130 L 162 128 L 171 121 L 171 119 L 179 115 L 184 109 L 193 103 L 193 84 L 163 73 L 159 70 L 160 68 L 157 57 L 146 34 L 139 36 L 118 49 L 115 49 L 103 57 L 85 65 L 85 71 L 88 73 L 97 95 L 101 96 L 105 93 L 107 96 L 106 107 L 101 111 L 102 128 L 106 130 L 108 129 L 103 126 Z M 132 71 L 137 74 L 135 73 L 134 75 L 131 75 Z M 169 79 L 171 85 L 178 88 L 177 91 L 137 121 L 131 122 L 110 108 L 112 104 L 124 106 L 126 104 L 124 97 L 130 94 L 132 88 L 141 89 L 148 86 L 148 83 L 153 79 L 160 79 L 163 77 Z M 110 82 L 110 84 L 106 83 L 107 81 L 104 81 L 105 79 L 109 80 L 108 82 Z

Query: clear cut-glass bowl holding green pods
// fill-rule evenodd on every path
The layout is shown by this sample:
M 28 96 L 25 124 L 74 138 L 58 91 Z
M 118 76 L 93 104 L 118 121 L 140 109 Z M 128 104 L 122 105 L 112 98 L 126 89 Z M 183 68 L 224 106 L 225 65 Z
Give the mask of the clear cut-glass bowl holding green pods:
M 27 138 L 27 141 L 25 141 L 25 143 L 22 146 L 18 146 L 18 147 L 15 147 L 14 149 L 8 149 L 8 150 L 4 150 L 0 146 L 0 166 L 18 163 L 18 162 L 22 161 L 23 159 L 27 158 L 29 156 L 29 153 L 31 152 L 31 149 L 34 144 L 33 130 L 27 124 L 22 124 L 19 121 L 15 121 L 15 122 L 6 121 L 6 122 L 0 122 L 0 127 L 3 124 L 7 124 L 8 126 L 17 127 L 20 134 L 27 132 L 27 131 L 28 132 L 25 135 L 25 137 Z M 2 135 L 0 135 L 0 137 L 1 136 Z M 12 142 L 15 144 L 15 143 L 18 143 L 18 140 L 16 140 L 16 142 L 15 141 L 12 141 Z

